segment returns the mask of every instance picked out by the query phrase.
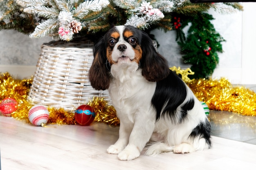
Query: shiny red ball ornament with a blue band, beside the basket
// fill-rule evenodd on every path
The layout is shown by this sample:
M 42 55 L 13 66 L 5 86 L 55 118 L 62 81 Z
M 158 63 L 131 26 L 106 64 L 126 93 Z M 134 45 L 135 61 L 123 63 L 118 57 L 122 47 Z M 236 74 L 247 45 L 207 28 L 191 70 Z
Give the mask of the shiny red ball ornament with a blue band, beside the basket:
M 78 124 L 83 126 L 90 125 L 95 118 L 93 108 L 87 104 L 79 106 L 75 111 L 75 120 Z

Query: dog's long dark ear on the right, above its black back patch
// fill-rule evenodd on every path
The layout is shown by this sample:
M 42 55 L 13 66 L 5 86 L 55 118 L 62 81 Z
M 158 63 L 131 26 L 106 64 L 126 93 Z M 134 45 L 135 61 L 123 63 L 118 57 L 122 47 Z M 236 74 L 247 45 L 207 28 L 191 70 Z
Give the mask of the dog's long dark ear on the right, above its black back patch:
M 150 82 L 157 82 L 167 77 L 170 73 L 168 62 L 162 55 L 157 53 L 148 34 L 141 32 L 142 75 Z

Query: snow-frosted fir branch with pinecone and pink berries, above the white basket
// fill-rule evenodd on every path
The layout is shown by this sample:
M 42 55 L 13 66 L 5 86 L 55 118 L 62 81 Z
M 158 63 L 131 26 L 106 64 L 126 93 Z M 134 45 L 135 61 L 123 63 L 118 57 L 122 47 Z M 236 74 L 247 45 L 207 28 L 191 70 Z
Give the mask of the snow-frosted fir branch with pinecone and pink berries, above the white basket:
M 83 21 L 83 18 L 90 12 L 101 11 L 104 7 L 107 7 L 109 1 L 17 0 L 17 3 L 24 7 L 24 12 L 47 19 L 36 26 L 30 37 L 42 38 L 50 35 L 54 38 L 58 36 L 61 40 L 70 41 L 74 38 L 74 33 L 79 33 L 82 27 L 88 24 Z M 81 23 L 83 26 L 81 26 Z M 62 29 L 63 31 L 60 31 Z

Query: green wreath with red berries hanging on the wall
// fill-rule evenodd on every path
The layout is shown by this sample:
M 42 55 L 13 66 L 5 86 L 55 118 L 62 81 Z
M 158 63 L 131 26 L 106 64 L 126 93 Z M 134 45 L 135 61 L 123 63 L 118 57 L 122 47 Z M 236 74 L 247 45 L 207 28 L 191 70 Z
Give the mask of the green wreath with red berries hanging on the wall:
M 184 54 L 182 59 L 184 63 L 192 64 L 191 70 L 195 72 L 190 78 L 211 76 L 219 62 L 217 52 L 223 52 L 221 42 L 225 40 L 211 24 L 213 19 L 212 15 L 203 12 L 194 16 L 173 14 L 173 29 L 177 31 L 176 41 Z M 183 29 L 189 23 L 191 26 L 185 37 Z

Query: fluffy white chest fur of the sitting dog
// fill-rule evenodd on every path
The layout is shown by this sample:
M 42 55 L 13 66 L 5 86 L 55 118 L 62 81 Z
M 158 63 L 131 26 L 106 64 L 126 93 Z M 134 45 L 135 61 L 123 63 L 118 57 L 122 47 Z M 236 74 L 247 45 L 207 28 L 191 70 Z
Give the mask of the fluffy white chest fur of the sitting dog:
M 113 78 L 108 91 L 118 116 L 133 122 L 136 114 L 150 112 L 156 83 L 148 82 L 141 75 L 137 63 L 114 64 L 111 73 Z

